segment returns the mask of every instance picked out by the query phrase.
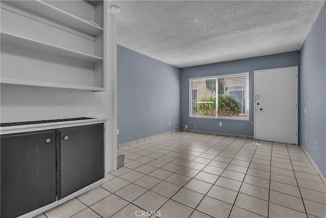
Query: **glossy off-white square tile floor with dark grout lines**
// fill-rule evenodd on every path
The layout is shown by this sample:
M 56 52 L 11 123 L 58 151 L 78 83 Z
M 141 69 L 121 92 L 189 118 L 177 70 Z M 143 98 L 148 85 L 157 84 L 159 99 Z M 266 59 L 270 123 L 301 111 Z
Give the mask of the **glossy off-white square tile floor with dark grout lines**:
M 326 217 L 299 146 L 174 133 L 118 152 L 107 182 L 38 217 Z

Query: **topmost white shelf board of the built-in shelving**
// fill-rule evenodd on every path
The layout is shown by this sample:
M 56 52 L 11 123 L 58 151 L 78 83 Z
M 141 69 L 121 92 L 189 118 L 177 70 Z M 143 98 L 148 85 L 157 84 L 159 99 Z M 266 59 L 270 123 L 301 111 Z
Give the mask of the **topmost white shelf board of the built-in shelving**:
M 36 14 L 48 17 L 58 22 L 64 23 L 71 28 L 77 29 L 84 33 L 97 36 L 103 33 L 103 28 L 94 25 L 80 17 L 67 13 L 59 8 L 49 5 L 39 0 L 33 1 L 10 1 L 12 4 L 32 11 Z

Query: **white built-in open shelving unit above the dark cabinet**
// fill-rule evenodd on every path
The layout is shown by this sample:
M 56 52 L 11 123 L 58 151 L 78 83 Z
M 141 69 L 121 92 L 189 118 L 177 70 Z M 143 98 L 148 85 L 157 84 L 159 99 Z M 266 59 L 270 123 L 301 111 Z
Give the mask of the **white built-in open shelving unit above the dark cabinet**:
M 73 3 L 91 22 L 50 4 L 2 1 L 1 83 L 105 91 L 104 3 Z

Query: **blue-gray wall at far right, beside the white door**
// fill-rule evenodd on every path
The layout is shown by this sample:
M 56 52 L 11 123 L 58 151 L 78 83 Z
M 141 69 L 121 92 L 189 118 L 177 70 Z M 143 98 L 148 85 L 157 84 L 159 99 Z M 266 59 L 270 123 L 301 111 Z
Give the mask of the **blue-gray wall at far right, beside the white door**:
M 325 5 L 324 3 L 302 46 L 300 61 L 300 141 L 324 175 L 326 175 Z M 305 101 L 305 95 L 307 95 L 307 101 Z M 306 134 L 308 134 L 308 140 L 306 140 Z M 316 149 L 314 142 L 316 142 Z

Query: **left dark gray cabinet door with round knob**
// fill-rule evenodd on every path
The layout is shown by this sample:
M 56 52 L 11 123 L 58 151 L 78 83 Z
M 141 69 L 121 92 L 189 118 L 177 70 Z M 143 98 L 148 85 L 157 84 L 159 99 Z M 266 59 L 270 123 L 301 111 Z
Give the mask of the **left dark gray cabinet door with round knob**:
M 56 130 L 1 136 L 1 217 L 56 201 Z

